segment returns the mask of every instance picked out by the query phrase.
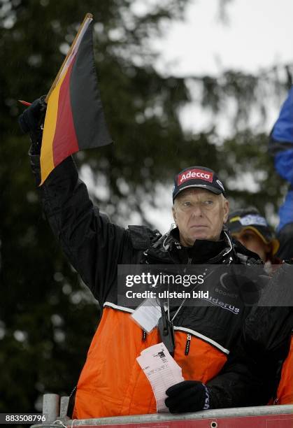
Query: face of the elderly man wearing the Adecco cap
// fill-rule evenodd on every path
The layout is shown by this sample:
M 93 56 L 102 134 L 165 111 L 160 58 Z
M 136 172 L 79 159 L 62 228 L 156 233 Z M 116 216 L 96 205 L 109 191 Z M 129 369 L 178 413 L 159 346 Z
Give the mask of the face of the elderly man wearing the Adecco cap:
M 228 214 L 229 203 L 221 194 L 194 187 L 183 190 L 173 206 L 180 243 L 188 247 L 196 239 L 218 241 Z

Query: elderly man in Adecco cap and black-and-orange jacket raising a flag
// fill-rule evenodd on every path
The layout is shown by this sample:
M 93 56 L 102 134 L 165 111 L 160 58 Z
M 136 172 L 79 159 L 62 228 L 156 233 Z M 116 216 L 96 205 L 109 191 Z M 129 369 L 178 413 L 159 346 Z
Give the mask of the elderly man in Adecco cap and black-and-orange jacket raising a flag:
M 40 182 L 40 111 L 27 109 L 31 134 L 31 166 Z M 150 383 L 136 362 L 142 350 L 162 341 L 159 329 L 146 334 L 130 315 L 133 309 L 117 304 L 118 264 L 254 264 L 255 255 L 231 243 L 224 228 L 229 213 L 224 186 L 211 169 L 190 166 L 176 175 L 173 217 L 176 228 L 162 236 L 148 227 L 117 226 L 101 215 L 87 193 L 71 157 L 59 164 L 40 188 L 48 222 L 64 253 L 80 274 L 103 314 L 76 392 L 74 418 L 155 413 Z M 218 297 L 218 296 L 215 296 Z M 217 301 L 217 299 L 215 299 Z M 227 311 L 222 306 L 169 308 L 174 359 L 185 381 L 167 390 L 171 412 L 199 411 L 232 403 L 222 401 L 220 387 L 209 387 L 227 362 L 241 333 L 248 308 Z M 221 381 L 221 380 L 220 380 Z M 233 393 L 235 395 L 235 393 Z M 184 399 L 183 399 L 184 397 Z M 252 397 L 242 394 L 239 404 Z

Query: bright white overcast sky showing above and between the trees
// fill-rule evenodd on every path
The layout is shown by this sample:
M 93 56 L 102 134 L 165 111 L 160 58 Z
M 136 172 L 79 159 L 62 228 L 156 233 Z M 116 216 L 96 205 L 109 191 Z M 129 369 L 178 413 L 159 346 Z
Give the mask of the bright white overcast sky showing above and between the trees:
M 143 13 L 154 2 L 157 0 L 137 0 L 131 7 Z M 193 0 L 185 11 L 185 21 L 169 24 L 165 36 L 153 42 L 160 52 L 157 69 L 176 76 L 217 76 L 227 69 L 257 73 L 276 64 L 293 63 L 293 0 L 234 0 L 226 11 L 228 22 L 224 24 L 218 20 L 219 0 Z M 278 109 L 271 112 L 268 131 Z M 196 124 L 204 127 L 206 120 L 197 110 L 188 108 L 183 115 L 184 126 L 194 131 L 199 130 Z M 202 120 L 195 121 L 194 115 Z M 172 222 L 171 187 L 157 187 L 158 211 L 145 206 L 148 220 L 162 232 Z M 134 214 L 128 224 L 137 220 Z

